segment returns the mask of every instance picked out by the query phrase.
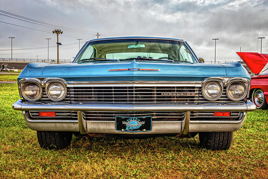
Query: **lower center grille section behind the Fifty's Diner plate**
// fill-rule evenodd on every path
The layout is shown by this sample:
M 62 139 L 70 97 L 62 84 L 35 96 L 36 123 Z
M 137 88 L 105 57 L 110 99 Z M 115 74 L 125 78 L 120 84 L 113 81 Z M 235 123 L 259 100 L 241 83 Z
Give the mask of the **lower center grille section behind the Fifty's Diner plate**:
M 185 112 L 158 111 L 158 112 L 119 112 L 119 111 L 84 111 L 82 116 L 87 121 L 115 121 L 116 116 L 144 117 L 152 116 L 152 121 L 181 121 Z

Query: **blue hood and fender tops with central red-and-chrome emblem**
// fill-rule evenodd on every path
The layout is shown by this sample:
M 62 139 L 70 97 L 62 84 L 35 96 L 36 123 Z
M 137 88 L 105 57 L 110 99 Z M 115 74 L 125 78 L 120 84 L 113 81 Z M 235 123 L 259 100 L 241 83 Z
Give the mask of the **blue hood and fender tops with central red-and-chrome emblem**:
M 114 69 L 158 69 L 159 71 L 109 71 Z M 63 78 L 66 81 L 202 81 L 207 77 L 246 77 L 240 63 L 201 64 L 156 61 L 105 61 L 92 63 L 30 63 L 18 79 Z

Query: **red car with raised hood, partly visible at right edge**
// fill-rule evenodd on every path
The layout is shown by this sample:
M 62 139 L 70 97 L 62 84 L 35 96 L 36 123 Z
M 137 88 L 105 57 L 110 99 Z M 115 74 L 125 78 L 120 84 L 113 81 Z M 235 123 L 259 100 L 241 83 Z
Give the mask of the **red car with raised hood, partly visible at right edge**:
M 268 101 L 268 54 L 237 52 L 251 72 L 258 74 L 251 77 L 250 98 L 258 109 L 267 109 Z

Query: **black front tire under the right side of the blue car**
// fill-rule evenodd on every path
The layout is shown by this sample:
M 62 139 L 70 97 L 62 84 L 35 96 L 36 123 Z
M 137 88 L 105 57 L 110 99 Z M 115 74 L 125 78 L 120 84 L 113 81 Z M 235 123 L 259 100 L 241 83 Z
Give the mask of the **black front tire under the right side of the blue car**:
M 228 150 L 233 132 L 199 132 L 200 145 L 209 150 Z

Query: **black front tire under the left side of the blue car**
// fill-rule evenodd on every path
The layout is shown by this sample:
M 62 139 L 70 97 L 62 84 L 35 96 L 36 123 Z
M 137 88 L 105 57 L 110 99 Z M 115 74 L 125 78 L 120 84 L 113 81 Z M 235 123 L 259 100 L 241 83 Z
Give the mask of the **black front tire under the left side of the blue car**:
M 71 144 L 72 132 L 36 131 L 38 143 L 44 149 L 65 149 Z

